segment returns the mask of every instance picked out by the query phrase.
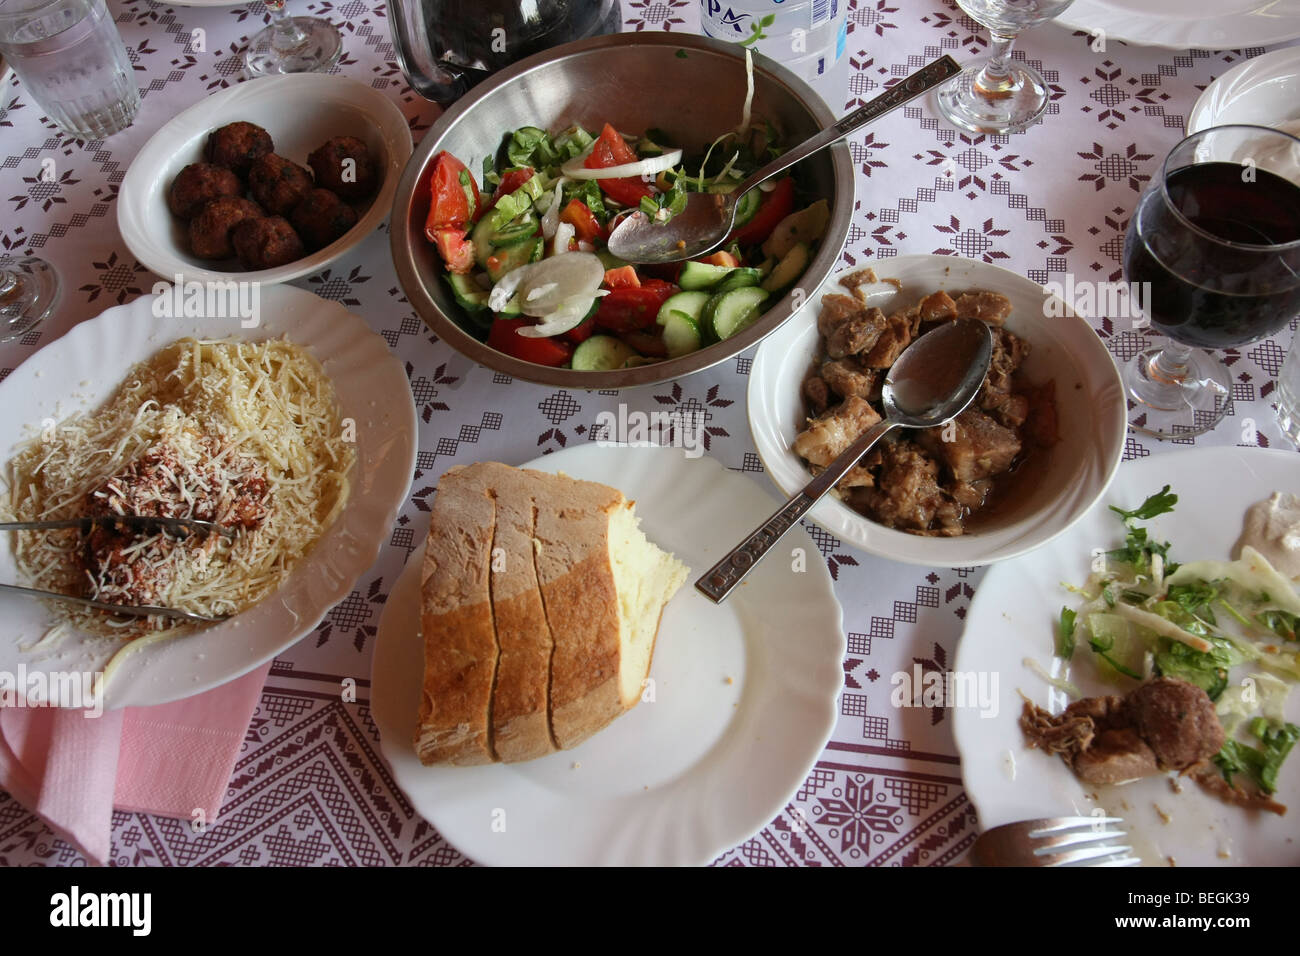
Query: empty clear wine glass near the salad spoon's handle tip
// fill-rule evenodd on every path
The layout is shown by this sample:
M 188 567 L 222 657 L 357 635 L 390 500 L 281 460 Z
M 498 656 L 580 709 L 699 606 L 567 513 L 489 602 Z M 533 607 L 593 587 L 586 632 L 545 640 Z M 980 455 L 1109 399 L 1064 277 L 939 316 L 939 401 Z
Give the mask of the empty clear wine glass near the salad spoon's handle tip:
M 939 91 L 939 112 L 971 133 L 1015 133 L 1048 108 L 1048 82 L 1026 62 L 1011 60 L 1022 30 L 1061 14 L 1074 0 L 957 0 L 993 36 L 985 60 L 976 60 Z

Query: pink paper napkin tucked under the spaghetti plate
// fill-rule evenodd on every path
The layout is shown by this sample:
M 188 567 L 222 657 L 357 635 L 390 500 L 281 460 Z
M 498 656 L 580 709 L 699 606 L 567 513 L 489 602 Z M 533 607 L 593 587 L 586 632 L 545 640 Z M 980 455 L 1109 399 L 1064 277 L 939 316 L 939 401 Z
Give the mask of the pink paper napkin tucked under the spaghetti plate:
M 82 717 L 0 709 L 0 787 L 91 861 L 110 855 L 113 808 L 212 825 L 270 663 L 207 693 Z

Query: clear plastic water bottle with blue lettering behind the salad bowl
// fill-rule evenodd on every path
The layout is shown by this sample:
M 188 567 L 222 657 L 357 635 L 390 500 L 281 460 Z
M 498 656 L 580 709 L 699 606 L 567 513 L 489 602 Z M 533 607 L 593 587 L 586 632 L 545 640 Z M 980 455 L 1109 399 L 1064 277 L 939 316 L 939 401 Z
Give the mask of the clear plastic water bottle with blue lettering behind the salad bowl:
M 849 0 L 699 0 L 699 26 L 779 61 L 844 113 Z

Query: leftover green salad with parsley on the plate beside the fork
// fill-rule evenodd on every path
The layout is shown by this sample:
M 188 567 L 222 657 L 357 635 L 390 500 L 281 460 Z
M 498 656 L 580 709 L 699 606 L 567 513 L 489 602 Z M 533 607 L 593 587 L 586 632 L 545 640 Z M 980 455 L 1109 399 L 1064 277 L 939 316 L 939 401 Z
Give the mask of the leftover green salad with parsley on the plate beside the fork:
M 1174 562 L 1169 544 L 1139 522 L 1176 502 L 1165 485 L 1132 511 L 1112 506 L 1127 529 L 1124 546 L 1097 553 L 1088 581 L 1070 588 L 1084 604 L 1061 610 L 1056 654 L 1070 661 L 1087 648 L 1100 672 L 1126 687 L 1154 676 L 1200 687 L 1226 734 L 1214 765 L 1230 786 L 1244 779 L 1271 795 L 1300 740 L 1283 714 L 1300 679 L 1300 593 L 1249 546 L 1236 561 Z M 1052 683 L 1079 696 L 1069 682 Z

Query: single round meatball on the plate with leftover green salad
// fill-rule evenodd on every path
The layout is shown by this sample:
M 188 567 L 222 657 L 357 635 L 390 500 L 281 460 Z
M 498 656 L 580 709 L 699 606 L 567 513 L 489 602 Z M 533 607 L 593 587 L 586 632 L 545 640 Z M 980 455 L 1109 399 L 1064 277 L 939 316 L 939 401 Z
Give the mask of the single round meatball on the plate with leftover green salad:
M 1205 691 L 1186 680 L 1148 680 L 1128 695 L 1128 708 L 1138 732 L 1165 770 L 1187 770 L 1223 747 L 1223 724 L 1214 705 Z

